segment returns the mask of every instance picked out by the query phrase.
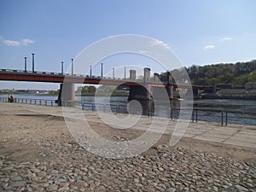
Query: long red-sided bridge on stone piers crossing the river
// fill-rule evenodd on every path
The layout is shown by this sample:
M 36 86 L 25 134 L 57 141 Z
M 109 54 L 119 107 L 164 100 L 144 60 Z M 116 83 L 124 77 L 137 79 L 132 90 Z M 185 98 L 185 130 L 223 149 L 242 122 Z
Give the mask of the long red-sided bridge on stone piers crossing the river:
M 100 76 L 89 76 L 69 73 L 47 73 L 38 71 L 23 71 L 23 70 L 10 70 L 0 69 L 0 80 L 5 81 L 28 81 L 28 82 L 47 82 L 59 83 L 61 89 L 59 93 L 58 102 L 61 105 L 63 101 L 74 101 L 75 90 L 74 84 L 108 84 L 108 85 L 125 85 L 130 87 L 129 100 L 145 100 L 150 99 L 151 96 L 160 98 L 166 91 L 168 97 L 173 99 L 173 90 L 175 89 L 190 89 L 193 90 L 193 96 L 198 96 L 198 90 L 213 90 L 213 86 L 201 86 L 188 84 L 174 84 L 170 73 L 166 73 L 166 82 L 160 82 L 150 79 L 150 68 L 144 68 L 143 79 L 136 79 L 136 71 L 130 70 L 129 79 L 111 79 Z M 156 74 L 154 73 L 154 76 Z M 146 89 L 147 88 L 147 89 Z M 150 91 L 148 91 L 150 90 Z

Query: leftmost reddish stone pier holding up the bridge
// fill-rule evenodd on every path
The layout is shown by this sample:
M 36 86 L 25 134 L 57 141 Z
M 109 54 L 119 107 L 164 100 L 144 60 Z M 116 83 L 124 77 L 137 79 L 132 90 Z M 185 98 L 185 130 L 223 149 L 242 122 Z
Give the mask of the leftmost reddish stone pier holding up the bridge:
M 60 85 L 60 92 L 58 96 L 58 105 L 73 107 L 75 101 L 75 87 L 74 83 L 62 83 Z

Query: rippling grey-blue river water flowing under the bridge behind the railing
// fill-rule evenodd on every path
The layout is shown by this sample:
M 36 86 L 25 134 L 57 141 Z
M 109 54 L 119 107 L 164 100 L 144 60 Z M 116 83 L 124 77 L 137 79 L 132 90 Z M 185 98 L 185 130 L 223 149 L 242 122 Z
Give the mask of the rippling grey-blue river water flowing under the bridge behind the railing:
M 0 97 L 7 97 L 8 95 L 0 95 Z M 40 96 L 40 95 L 30 95 L 30 94 L 19 94 L 14 95 L 15 98 L 28 98 L 28 99 L 38 99 L 35 101 L 39 104 L 39 100 L 55 101 L 57 96 Z M 119 113 L 127 113 L 127 97 L 123 96 L 113 96 L 111 98 L 107 96 L 77 96 L 78 101 L 84 102 L 84 109 L 92 110 L 104 110 L 104 111 L 118 111 Z M 21 102 L 21 101 L 20 101 Z M 25 102 L 25 101 L 23 101 Z M 34 101 L 32 101 L 34 103 Z M 95 106 L 91 103 L 96 103 Z M 111 103 L 109 106 L 107 103 Z M 178 117 L 178 108 L 180 107 L 181 101 L 171 101 L 171 106 L 173 108 L 172 116 L 173 118 Z M 44 104 L 42 102 L 41 104 Z M 50 102 L 47 103 L 50 105 Z M 54 105 L 56 105 L 54 103 Z M 208 122 L 218 122 L 221 124 L 222 113 L 221 111 L 228 111 L 228 124 L 236 125 L 256 125 L 256 101 L 254 100 L 196 100 L 196 101 L 183 101 L 183 106 L 193 105 L 194 109 L 197 111 L 197 119 Z M 154 115 L 160 115 L 163 117 L 171 117 L 171 114 L 166 113 L 166 104 L 160 106 L 162 110 Z M 136 112 L 135 112 L 136 113 Z M 140 113 L 140 112 L 138 112 Z M 150 114 L 153 114 L 152 112 Z M 225 115 L 224 124 L 225 124 Z M 195 115 L 194 115 L 195 119 Z

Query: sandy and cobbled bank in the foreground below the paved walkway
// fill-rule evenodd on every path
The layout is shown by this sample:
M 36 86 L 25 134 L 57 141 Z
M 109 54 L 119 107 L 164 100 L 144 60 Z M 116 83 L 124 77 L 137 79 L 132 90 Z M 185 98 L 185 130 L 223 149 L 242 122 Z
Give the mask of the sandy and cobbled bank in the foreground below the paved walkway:
M 95 125 L 113 140 L 140 131 Z M 111 160 L 90 154 L 61 117 L 0 115 L 2 191 L 256 191 L 255 149 L 168 136 L 147 152 Z

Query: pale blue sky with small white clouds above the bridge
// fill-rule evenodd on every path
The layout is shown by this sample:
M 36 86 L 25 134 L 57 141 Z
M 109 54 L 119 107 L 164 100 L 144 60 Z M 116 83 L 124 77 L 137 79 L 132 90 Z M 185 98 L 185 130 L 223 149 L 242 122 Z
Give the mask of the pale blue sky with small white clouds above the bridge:
M 90 44 L 122 34 L 157 39 L 177 55 L 184 67 L 256 59 L 254 0 L 1 0 L 0 68 L 67 71 Z M 152 67 L 141 55 L 102 60 L 113 68 Z M 94 69 L 100 75 L 97 64 Z M 128 69 L 127 69 L 128 70 Z M 127 71 L 126 70 L 126 71 Z M 139 73 L 137 73 L 139 75 Z M 120 74 L 120 78 L 122 78 Z M 127 75 L 126 75 L 127 76 Z M 58 89 L 58 84 L 0 82 L 0 89 Z

